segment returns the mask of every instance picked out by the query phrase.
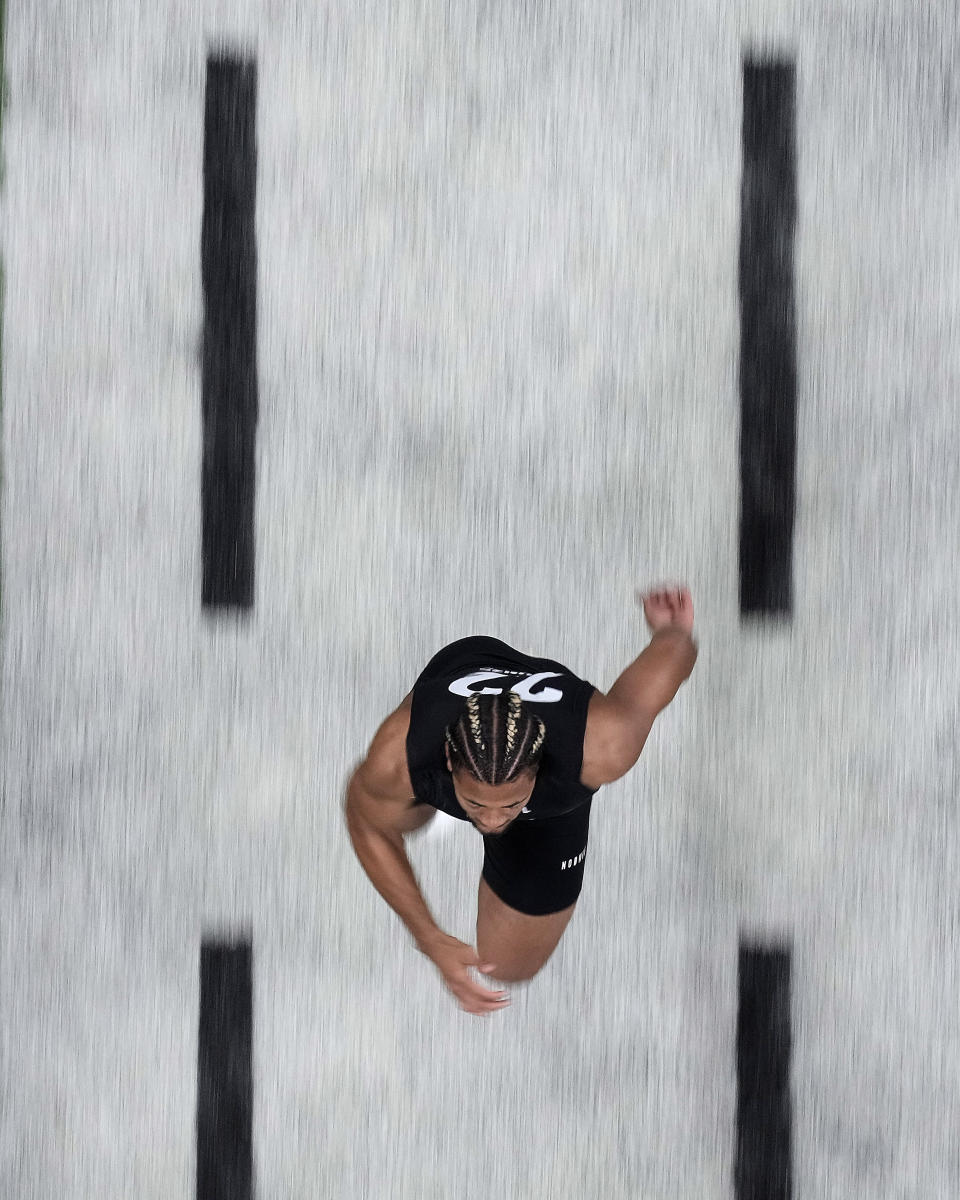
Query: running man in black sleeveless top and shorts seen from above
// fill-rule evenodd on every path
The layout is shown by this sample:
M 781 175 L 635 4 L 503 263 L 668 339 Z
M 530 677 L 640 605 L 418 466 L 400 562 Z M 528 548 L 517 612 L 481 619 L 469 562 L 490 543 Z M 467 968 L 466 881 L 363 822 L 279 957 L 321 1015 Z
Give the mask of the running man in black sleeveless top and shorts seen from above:
M 606 695 L 552 659 L 464 637 L 424 667 L 350 779 L 356 857 L 468 1013 L 510 1003 L 470 967 L 520 982 L 550 959 L 583 883 L 593 796 L 636 764 L 694 670 L 689 589 L 638 595 L 653 637 Z M 436 924 L 404 850 L 438 810 L 484 839 L 476 950 Z

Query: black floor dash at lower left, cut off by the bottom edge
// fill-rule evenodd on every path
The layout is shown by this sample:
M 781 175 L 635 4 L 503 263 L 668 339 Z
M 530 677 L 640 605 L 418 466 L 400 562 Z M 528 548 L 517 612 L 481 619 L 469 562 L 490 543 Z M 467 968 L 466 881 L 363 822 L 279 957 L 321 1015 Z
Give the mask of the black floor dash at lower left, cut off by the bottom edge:
M 253 1196 L 250 942 L 200 944 L 197 1200 Z

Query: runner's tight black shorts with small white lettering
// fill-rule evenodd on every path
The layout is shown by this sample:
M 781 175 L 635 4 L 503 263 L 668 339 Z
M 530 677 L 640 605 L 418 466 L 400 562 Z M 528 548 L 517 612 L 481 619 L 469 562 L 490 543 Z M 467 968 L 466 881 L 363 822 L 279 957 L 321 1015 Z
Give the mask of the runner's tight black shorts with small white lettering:
M 515 821 L 498 838 L 484 835 L 484 878 L 518 912 L 545 917 L 569 908 L 583 887 L 593 797 L 572 812 Z

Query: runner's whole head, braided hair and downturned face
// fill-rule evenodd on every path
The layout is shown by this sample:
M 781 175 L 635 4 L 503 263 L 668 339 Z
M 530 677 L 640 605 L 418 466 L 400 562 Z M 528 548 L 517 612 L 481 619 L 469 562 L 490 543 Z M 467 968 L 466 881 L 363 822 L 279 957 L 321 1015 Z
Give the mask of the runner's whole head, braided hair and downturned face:
M 544 722 L 515 691 L 474 695 L 444 737 L 460 806 L 481 833 L 503 833 L 533 794 Z

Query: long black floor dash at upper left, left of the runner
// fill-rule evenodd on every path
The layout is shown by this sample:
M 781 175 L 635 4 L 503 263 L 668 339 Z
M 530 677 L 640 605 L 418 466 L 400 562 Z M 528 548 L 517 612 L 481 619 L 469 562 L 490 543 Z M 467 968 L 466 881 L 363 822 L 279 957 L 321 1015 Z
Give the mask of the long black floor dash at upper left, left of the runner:
M 203 149 L 204 606 L 253 605 L 257 65 L 210 55 Z

